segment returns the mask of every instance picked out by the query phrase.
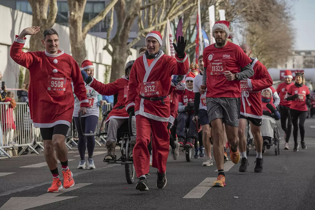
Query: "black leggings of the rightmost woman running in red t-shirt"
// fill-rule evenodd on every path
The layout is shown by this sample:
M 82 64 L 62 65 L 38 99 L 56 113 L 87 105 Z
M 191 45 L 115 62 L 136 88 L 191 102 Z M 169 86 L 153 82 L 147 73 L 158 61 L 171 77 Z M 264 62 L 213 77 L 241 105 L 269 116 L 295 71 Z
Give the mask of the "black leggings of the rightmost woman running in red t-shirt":
M 292 124 L 293 124 L 294 143 L 297 144 L 297 132 L 299 131 L 299 128 L 300 128 L 300 134 L 301 134 L 301 142 L 304 142 L 304 135 L 305 135 L 304 122 L 306 120 L 307 111 L 297 111 L 295 109 L 290 109 L 290 115 L 291 115 Z M 300 118 L 300 122 L 298 122 L 299 118 Z

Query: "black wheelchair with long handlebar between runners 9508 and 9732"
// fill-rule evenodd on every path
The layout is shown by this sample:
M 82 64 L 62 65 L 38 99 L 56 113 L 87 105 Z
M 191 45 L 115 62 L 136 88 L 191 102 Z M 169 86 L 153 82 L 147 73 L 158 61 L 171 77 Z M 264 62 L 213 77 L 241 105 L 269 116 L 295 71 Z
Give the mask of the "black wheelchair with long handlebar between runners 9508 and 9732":
M 117 95 L 114 95 L 114 103 L 115 103 L 115 98 L 116 98 L 116 102 L 117 102 Z M 79 113 L 79 116 L 78 116 L 78 125 L 79 125 L 78 131 L 80 132 L 80 134 L 82 134 L 84 136 L 100 137 L 101 135 L 107 135 L 107 129 L 104 132 L 102 132 L 102 130 L 103 130 L 104 122 L 105 122 L 105 120 L 106 120 L 106 118 L 110 112 L 111 112 L 110 110 L 104 112 L 102 122 L 100 124 L 99 132 L 93 133 L 92 131 L 90 131 L 90 133 L 83 133 L 82 127 L 81 127 L 81 116 L 82 116 L 82 111 L 81 111 Z M 115 155 L 114 160 L 105 160 L 105 158 L 103 160 L 103 162 L 106 162 L 107 164 L 124 165 L 125 166 L 125 176 L 126 176 L 126 180 L 127 180 L 128 184 L 133 184 L 135 182 L 135 177 L 136 177 L 133 159 L 128 158 L 132 152 L 130 150 L 129 141 L 130 141 L 130 137 L 133 136 L 132 128 L 131 128 L 131 118 L 134 115 L 135 114 L 133 112 L 131 112 L 129 115 L 128 122 L 124 122 L 120 126 L 120 128 L 118 128 L 118 130 L 117 130 L 116 145 L 120 146 L 120 154 L 121 154 L 120 158 L 117 159 L 116 155 Z

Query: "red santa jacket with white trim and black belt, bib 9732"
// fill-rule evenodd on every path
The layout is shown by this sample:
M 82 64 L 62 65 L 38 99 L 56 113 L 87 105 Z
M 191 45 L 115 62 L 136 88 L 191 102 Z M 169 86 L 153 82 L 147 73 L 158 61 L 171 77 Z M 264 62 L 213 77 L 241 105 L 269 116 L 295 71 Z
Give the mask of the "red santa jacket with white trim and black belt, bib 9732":
M 169 97 L 164 99 L 164 103 L 160 100 L 152 101 L 141 98 L 139 95 L 146 95 L 148 84 L 156 84 L 151 86 L 148 94 L 154 92 L 154 96 L 167 96 L 171 85 L 172 75 L 185 75 L 188 72 L 187 54 L 183 59 L 175 56 L 165 55 L 162 51 L 160 56 L 155 58 L 151 65 L 145 55 L 140 56 L 135 60 L 131 67 L 129 77 L 128 95 L 125 102 L 126 109 L 135 107 L 135 115 L 142 115 L 153 120 L 168 122 L 170 116 L 170 101 Z M 141 91 L 142 89 L 142 91 Z M 145 96 L 149 97 L 149 96 Z

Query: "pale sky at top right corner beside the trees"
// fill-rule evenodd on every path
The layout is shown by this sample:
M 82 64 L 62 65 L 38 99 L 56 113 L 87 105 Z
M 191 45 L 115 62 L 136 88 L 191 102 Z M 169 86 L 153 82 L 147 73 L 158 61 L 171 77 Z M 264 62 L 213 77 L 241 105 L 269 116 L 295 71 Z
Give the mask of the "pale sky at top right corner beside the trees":
M 315 50 L 315 0 L 295 0 L 291 13 L 294 17 L 294 49 Z

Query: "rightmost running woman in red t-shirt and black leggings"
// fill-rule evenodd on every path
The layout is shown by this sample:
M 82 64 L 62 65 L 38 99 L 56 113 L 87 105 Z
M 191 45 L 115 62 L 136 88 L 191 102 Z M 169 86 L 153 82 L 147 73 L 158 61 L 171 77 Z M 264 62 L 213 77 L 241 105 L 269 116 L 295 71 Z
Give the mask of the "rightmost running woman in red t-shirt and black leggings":
M 307 116 L 307 106 L 311 105 L 310 90 L 304 85 L 304 72 L 295 72 L 295 84 L 290 86 L 286 100 L 292 101 L 290 105 L 290 115 L 293 124 L 294 149 L 299 151 L 299 144 L 297 143 L 297 132 L 300 128 L 301 146 L 306 149 L 304 142 L 305 128 L 304 122 Z M 298 120 L 300 121 L 298 122 Z

